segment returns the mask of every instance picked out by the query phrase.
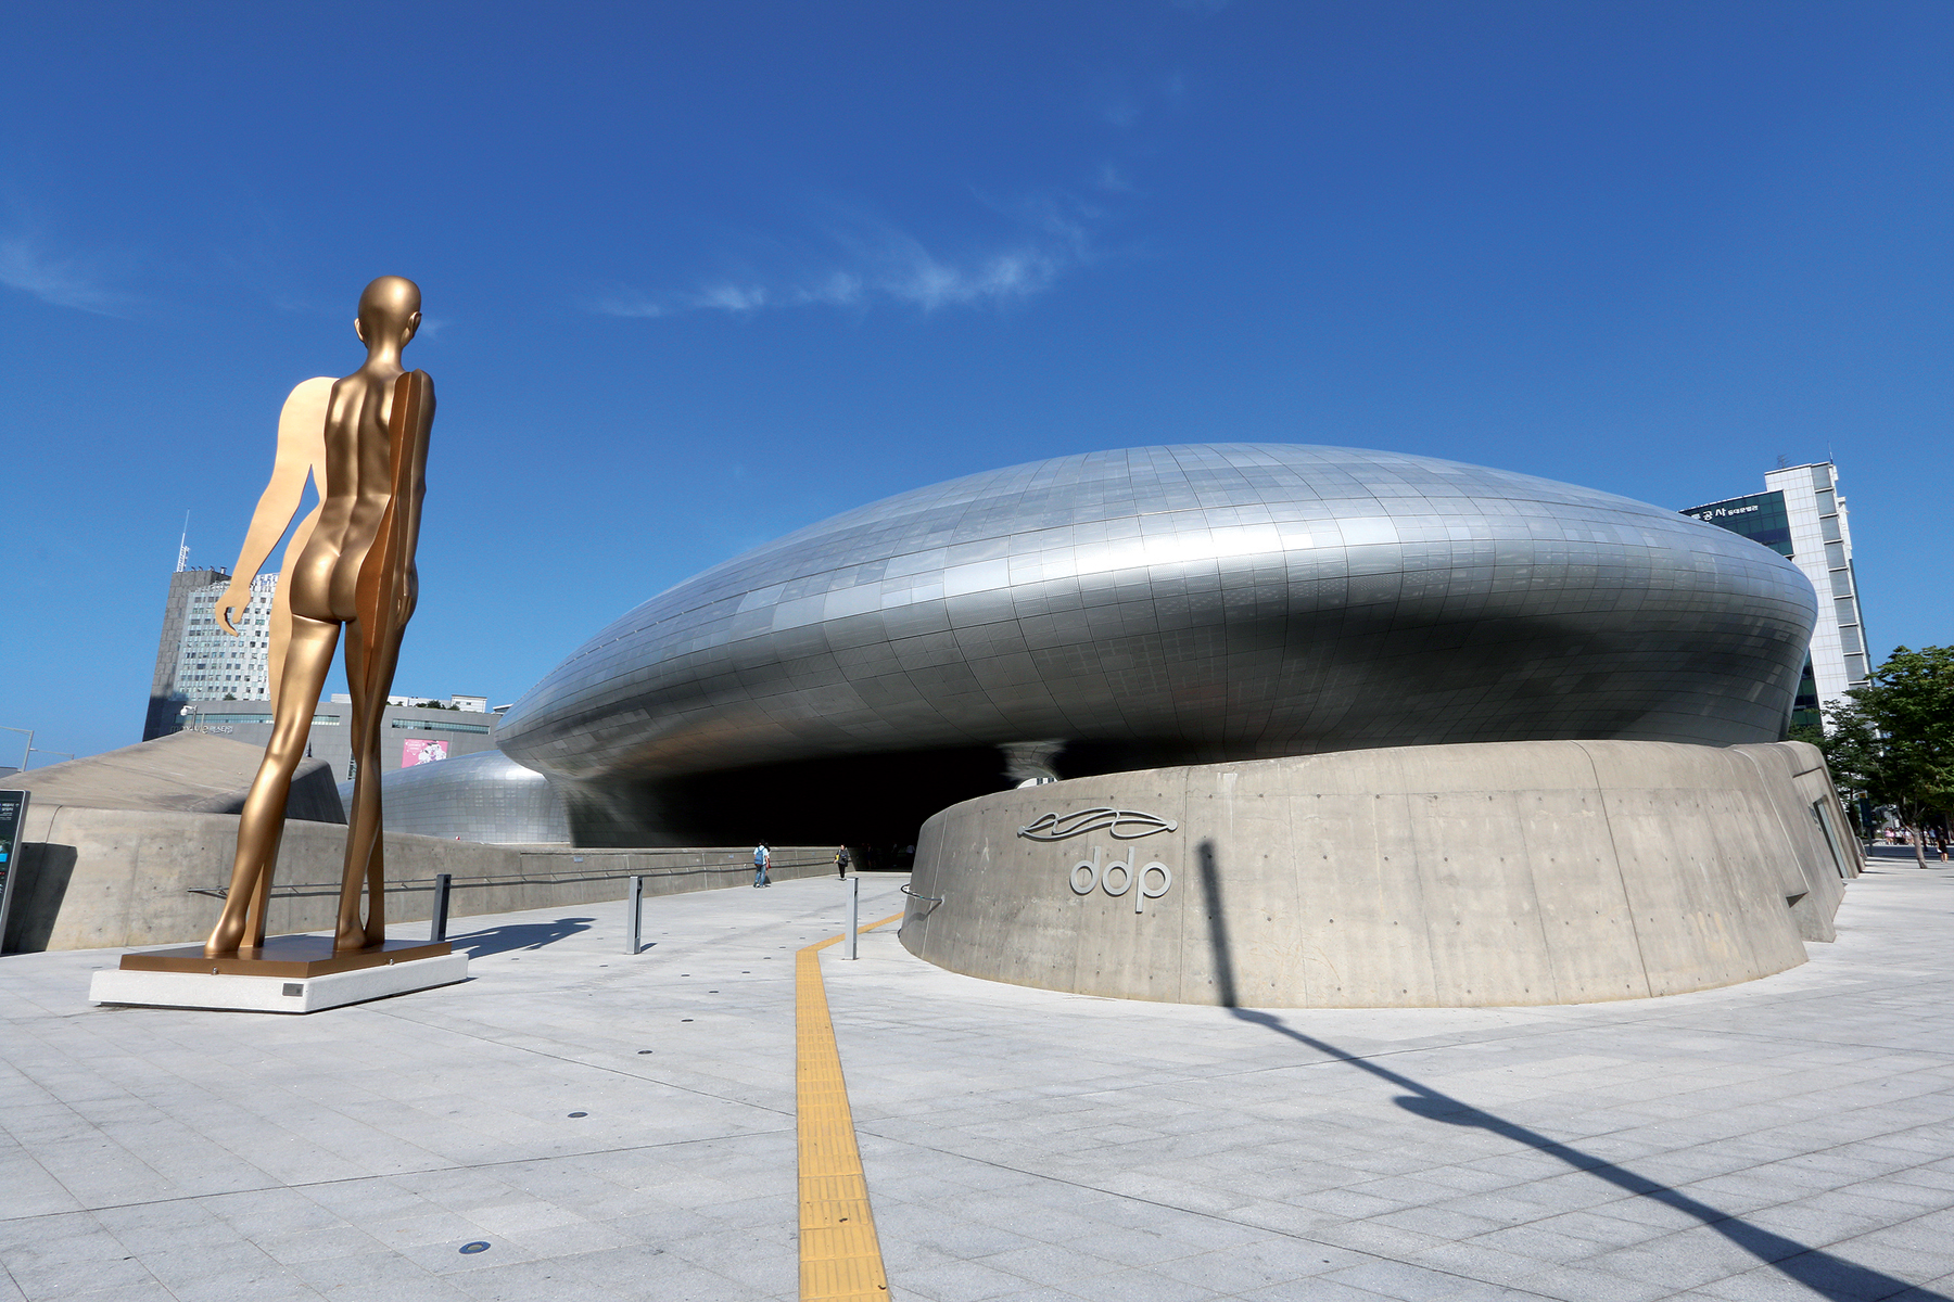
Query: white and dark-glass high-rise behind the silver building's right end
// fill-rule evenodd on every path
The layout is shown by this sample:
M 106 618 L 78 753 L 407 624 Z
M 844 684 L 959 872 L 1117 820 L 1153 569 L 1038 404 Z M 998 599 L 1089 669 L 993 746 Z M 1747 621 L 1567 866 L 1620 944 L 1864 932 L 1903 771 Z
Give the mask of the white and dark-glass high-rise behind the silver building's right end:
M 1870 664 L 1839 467 L 1829 461 L 1782 467 L 1764 474 L 1764 492 L 1692 506 L 1682 513 L 1763 543 L 1811 580 L 1819 593 L 1819 621 L 1811 631 L 1811 654 L 1792 705 L 1792 722 L 1819 724 L 1819 709 L 1862 685 Z

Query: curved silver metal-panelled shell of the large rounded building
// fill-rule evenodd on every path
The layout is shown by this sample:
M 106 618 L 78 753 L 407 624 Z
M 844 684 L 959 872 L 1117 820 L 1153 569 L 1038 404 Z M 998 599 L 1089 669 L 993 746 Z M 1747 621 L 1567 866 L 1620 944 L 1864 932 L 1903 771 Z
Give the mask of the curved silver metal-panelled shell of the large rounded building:
M 1628 498 L 1405 453 L 1137 447 L 713 566 L 578 648 L 498 742 L 574 781 L 1024 740 L 1774 742 L 1813 619 L 1770 549 Z

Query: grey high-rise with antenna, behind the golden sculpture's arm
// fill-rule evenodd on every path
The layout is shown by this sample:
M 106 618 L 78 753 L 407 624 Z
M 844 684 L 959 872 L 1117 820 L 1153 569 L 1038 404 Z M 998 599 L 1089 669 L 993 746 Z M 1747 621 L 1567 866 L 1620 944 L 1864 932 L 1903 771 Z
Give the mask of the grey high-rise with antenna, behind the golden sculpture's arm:
M 236 617 L 238 636 L 217 627 L 217 599 L 231 588 L 225 570 L 178 570 L 162 607 L 156 671 L 149 683 L 143 740 L 176 732 L 178 714 L 195 701 L 264 701 L 270 695 L 272 597 L 277 574 L 260 574 L 250 605 Z

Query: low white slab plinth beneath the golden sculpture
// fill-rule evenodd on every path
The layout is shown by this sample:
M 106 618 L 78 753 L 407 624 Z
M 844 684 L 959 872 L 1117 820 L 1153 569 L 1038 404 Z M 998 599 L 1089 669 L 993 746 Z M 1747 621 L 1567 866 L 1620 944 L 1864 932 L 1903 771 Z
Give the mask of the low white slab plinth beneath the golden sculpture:
M 283 937 L 303 939 L 303 937 Z M 326 941 L 330 947 L 330 941 Z M 270 949 L 270 947 L 268 947 Z M 428 949 L 414 945 L 408 949 Z M 446 949 L 446 945 L 442 945 Z M 168 953 L 168 951 L 164 951 Z M 149 958 L 150 955 L 129 955 Z M 346 955 L 360 958 L 361 955 Z M 365 1003 L 389 996 L 451 986 L 469 976 L 467 955 L 438 955 L 432 958 L 391 960 L 379 955 L 375 962 L 317 976 L 250 976 L 240 972 L 211 972 L 203 960 L 201 972 L 170 972 L 160 968 L 104 968 L 88 984 L 92 1003 L 135 1003 L 147 1007 L 203 1007 L 250 1013 L 319 1013 L 328 1007 Z M 238 962 L 233 958 L 231 962 Z

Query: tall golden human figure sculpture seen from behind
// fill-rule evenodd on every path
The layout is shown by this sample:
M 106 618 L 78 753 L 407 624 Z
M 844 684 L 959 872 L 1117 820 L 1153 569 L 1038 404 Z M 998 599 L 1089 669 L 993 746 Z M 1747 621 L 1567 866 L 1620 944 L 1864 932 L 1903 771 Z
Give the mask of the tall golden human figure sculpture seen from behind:
M 233 611 L 250 601 L 250 582 L 299 513 L 305 480 L 319 506 L 285 549 L 270 621 L 272 740 L 238 818 L 231 890 L 203 955 L 234 956 L 264 947 L 264 915 L 285 830 L 291 777 L 305 757 L 313 711 L 332 652 L 346 631 L 346 683 L 352 693 L 354 798 L 348 810 L 346 867 L 332 937 L 336 955 L 387 939 L 381 861 L 379 726 L 401 656 L 401 634 L 420 591 L 414 545 L 426 494 L 434 381 L 403 371 L 401 349 L 420 328 L 420 287 L 383 275 L 360 295 L 354 324 L 367 346 L 365 365 L 342 381 L 311 379 L 291 390 L 277 420 L 277 461 L 258 498 L 217 623 L 236 636 Z M 367 915 L 360 919 L 360 886 Z M 191 951 L 193 953 L 193 951 Z

